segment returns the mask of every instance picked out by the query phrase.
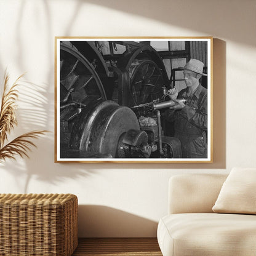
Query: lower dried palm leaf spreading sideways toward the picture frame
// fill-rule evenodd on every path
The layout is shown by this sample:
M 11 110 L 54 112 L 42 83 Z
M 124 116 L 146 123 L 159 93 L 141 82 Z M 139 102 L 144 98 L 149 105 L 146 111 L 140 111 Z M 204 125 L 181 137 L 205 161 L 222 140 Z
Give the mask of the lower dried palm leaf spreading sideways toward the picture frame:
M 31 139 L 38 138 L 40 135 L 48 132 L 47 130 L 34 130 L 33 132 L 27 132 L 26 134 L 20 135 L 3 148 L 0 149 L 0 162 L 5 161 L 7 158 L 15 159 L 15 155 L 21 156 L 22 158 L 28 156 L 28 151 L 31 151 L 31 146 L 36 145 L 31 142 Z

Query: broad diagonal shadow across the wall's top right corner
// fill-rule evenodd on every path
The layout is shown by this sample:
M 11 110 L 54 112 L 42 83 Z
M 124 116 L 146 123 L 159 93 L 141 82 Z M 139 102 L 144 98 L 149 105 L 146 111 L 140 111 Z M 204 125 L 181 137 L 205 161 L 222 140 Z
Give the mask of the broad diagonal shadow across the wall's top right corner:
M 77 5 L 81 6 L 81 2 L 90 2 L 109 9 L 158 20 L 209 36 L 218 34 L 219 37 L 231 41 L 255 45 L 254 33 L 248 33 L 245 29 L 248 24 L 244 18 L 246 15 L 254 17 L 255 1 L 244 1 L 241 4 L 240 0 L 233 0 L 232 3 L 229 0 L 140 0 L 139 2 L 137 0 L 78 0 Z M 193 35 L 196 36 L 194 32 Z M 126 34 L 120 36 L 126 36 Z M 175 36 L 188 36 L 188 34 L 175 34 Z

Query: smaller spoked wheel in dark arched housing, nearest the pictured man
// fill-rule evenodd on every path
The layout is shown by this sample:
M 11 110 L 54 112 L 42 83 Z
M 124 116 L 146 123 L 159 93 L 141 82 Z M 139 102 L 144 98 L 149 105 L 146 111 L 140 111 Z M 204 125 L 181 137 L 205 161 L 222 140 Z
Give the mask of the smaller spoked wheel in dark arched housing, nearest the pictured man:
M 130 90 L 137 105 L 151 102 L 162 95 L 164 79 L 152 60 L 137 60 L 129 68 Z

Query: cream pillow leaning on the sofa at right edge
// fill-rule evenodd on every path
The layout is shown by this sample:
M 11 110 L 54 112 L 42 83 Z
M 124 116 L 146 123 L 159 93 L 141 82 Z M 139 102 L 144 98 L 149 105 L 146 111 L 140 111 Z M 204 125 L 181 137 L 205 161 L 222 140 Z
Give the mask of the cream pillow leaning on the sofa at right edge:
M 218 213 L 256 214 L 256 169 L 232 169 L 212 210 Z

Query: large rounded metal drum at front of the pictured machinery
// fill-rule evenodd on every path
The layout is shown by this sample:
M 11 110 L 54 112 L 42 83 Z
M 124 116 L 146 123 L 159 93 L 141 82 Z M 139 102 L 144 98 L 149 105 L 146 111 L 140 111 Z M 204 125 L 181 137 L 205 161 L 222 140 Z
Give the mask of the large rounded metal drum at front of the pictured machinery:
M 98 158 L 116 158 L 119 139 L 130 129 L 140 130 L 134 112 L 106 100 L 81 112 L 74 123 L 70 147 Z

